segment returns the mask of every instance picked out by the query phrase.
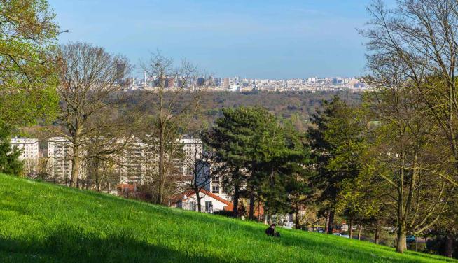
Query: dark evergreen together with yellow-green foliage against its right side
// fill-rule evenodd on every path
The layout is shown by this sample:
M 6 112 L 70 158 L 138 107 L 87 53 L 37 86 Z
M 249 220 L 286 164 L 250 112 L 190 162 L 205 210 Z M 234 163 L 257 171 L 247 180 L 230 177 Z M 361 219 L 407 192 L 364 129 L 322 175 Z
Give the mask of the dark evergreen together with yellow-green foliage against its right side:
M 317 171 L 310 181 L 332 228 L 335 212 L 354 220 L 368 211 L 358 184 L 366 143 L 355 108 L 339 97 L 324 101 L 323 108 L 308 131 Z

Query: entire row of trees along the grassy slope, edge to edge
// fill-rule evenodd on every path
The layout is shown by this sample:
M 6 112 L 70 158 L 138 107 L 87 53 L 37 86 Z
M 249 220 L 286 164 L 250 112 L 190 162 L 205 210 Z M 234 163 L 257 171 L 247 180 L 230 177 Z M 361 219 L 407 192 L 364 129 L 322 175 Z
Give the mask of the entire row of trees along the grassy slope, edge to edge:
M 153 56 L 143 67 L 157 85 L 132 107 L 123 92 L 129 83 L 122 77 L 132 69 L 125 57 L 86 43 L 58 46 L 60 31 L 46 1 L 0 5 L 0 171 L 20 169 L 18 152 L 9 149 L 11 131 L 53 120 L 50 134 L 71 142 L 70 186 L 82 186 L 78 178 L 86 163 L 100 190 L 112 167 L 123 166 L 135 137 L 150 148 L 145 190 L 155 203 L 166 204 L 176 188 L 171 176 L 181 155 L 179 139 L 200 117 L 200 90 L 189 83 L 195 66 Z M 268 220 L 295 213 L 299 225 L 299 212 L 318 205 L 326 232 L 333 232 L 336 216 L 347 219 L 350 235 L 353 224 L 373 227 L 376 241 L 381 227 L 393 227 L 400 253 L 406 234 L 442 231 L 453 242 L 458 4 L 397 5 L 387 9 L 375 1 L 368 8 L 373 19 L 361 34 L 368 39 L 366 81 L 373 91 L 361 106 L 337 98 L 325 102 L 306 134 L 261 107 L 226 108 L 204 129 L 206 158 L 233 194 L 233 215 L 243 198 L 251 219 L 257 201 Z M 196 192 L 202 187 L 198 174 L 188 184 Z

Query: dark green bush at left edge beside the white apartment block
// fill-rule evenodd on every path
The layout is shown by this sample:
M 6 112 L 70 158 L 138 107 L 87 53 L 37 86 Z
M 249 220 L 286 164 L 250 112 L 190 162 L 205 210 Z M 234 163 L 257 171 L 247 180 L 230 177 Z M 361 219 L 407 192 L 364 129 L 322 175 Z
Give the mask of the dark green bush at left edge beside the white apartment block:
M 11 148 L 11 129 L 0 125 L 0 173 L 20 175 L 22 162 L 19 160 L 20 150 Z

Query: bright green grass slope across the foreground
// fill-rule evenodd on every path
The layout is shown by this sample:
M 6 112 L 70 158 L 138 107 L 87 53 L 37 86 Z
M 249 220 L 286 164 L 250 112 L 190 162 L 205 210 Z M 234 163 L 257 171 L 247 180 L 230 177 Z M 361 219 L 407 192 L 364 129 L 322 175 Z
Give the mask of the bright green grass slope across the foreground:
M 0 262 L 458 262 L 0 175 Z

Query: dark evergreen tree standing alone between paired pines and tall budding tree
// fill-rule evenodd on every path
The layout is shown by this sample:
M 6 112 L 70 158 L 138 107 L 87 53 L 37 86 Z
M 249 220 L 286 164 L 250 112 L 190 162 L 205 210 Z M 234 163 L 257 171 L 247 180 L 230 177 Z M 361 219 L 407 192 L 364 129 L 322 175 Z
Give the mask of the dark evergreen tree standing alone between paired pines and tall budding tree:
M 326 204 L 326 232 L 332 234 L 335 208 L 342 182 L 356 178 L 359 173 L 361 129 L 354 120 L 352 108 L 334 97 L 324 101 L 324 111 L 312 118 L 308 131 L 317 174 L 311 178 L 319 193 L 318 201 Z

